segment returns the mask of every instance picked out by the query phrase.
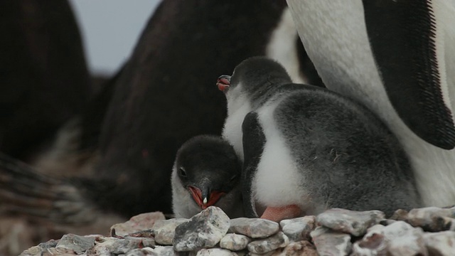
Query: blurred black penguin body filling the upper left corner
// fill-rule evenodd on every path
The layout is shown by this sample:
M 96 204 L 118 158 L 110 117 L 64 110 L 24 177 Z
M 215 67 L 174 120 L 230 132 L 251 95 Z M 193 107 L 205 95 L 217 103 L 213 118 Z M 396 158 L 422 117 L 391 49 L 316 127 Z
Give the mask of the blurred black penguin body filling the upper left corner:
M 0 23 L 0 151 L 30 163 L 82 112 L 90 75 L 68 1 L 4 0 Z

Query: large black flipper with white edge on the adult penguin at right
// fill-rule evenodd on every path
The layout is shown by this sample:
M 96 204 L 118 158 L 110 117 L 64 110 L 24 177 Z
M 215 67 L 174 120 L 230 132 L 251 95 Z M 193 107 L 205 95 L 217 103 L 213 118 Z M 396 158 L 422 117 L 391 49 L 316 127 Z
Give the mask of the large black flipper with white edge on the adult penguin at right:
M 455 21 L 446 16 L 454 6 L 444 0 L 363 0 L 363 7 L 370 46 L 397 114 L 426 142 L 454 149 L 455 32 L 445 27 L 447 18 Z

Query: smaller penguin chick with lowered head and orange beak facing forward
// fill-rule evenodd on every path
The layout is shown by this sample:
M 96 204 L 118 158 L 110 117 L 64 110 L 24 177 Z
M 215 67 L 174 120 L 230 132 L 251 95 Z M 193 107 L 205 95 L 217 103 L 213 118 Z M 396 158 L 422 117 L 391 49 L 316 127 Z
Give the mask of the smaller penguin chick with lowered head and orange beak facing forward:
M 176 218 L 191 218 L 208 206 L 218 206 L 230 218 L 244 216 L 240 173 L 228 142 L 213 135 L 189 139 L 177 151 L 171 176 Z

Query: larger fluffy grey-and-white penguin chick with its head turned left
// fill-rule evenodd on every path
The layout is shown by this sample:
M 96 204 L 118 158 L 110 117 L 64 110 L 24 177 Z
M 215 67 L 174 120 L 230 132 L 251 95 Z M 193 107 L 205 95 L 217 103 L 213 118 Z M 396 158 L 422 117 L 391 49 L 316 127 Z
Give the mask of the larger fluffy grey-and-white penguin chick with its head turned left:
M 228 100 L 223 137 L 244 160 L 247 217 L 279 221 L 328 208 L 382 210 L 420 204 L 394 135 L 363 105 L 292 84 L 274 60 L 244 60 L 218 78 Z M 259 211 L 259 210 L 258 210 Z

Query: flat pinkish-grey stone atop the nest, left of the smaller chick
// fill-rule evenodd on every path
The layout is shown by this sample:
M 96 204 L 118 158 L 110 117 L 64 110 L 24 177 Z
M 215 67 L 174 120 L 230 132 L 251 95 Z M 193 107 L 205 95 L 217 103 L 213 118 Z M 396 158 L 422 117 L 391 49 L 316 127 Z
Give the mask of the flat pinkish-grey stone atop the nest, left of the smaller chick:
M 133 216 L 125 223 L 118 223 L 111 227 L 110 233 L 115 235 L 125 236 L 132 233 L 137 233 L 141 230 L 149 230 L 153 228 L 156 220 L 166 220 L 161 212 L 141 213 Z

